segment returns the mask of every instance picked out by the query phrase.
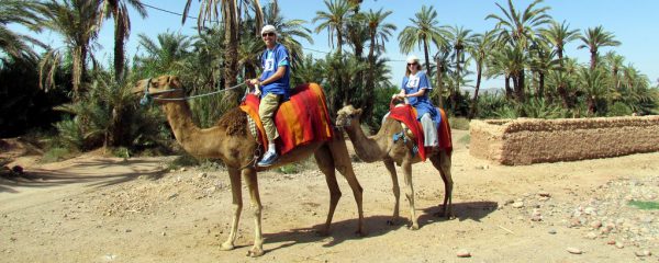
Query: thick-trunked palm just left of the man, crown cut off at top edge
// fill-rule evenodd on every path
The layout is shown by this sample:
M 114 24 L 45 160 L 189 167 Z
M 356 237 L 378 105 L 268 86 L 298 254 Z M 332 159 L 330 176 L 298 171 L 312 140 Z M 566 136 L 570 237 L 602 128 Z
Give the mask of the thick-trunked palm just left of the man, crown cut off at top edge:
M 181 23 L 186 23 L 190 5 L 193 0 L 187 0 L 183 9 L 183 15 Z M 224 87 L 231 88 L 237 83 L 238 75 L 238 43 L 241 41 L 239 25 L 241 14 L 243 13 L 241 8 L 252 5 L 252 10 L 255 13 L 256 28 L 260 31 L 263 26 L 263 10 L 259 0 L 198 0 L 201 2 L 199 7 L 199 20 L 197 21 L 197 28 L 201 31 L 204 27 L 206 21 L 222 20 L 224 24 Z M 217 18 L 217 10 L 221 11 L 221 18 Z M 256 35 L 259 32 L 255 33 Z M 235 106 L 238 103 L 239 91 L 233 90 L 225 95 L 224 101 L 230 106 Z

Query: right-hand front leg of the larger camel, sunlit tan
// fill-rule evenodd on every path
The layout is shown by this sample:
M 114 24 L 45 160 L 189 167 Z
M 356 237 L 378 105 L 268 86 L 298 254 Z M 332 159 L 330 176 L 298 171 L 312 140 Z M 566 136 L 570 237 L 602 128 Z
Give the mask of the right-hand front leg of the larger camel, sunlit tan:
M 260 195 L 258 193 L 258 179 L 254 169 L 243 170 L 243 176 L 249 188 L 249 199 L 252 201 L 252 213 L 254 215 L 254 245 L 247 252 L 248 256 L 260 256 L 264 254 L 264 237 L 261 232 L 261 209 Z

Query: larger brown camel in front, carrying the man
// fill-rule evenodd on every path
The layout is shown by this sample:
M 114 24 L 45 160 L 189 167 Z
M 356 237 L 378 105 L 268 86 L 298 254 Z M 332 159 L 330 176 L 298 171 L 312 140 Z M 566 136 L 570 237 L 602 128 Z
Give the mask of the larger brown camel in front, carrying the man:
M 236 239 L 238 220 L 243 208 L 241 173 L 243 174 L 249 188 L 256 232 L 254 245 L 247 255 L 263 255 L 264 238 L 261 236 L 261 202 L 258 191 L 257 172 L 265 169 L 255 168 L 253 165 L 256 163 L 255 152 L 257 151 L 258 144 L 248 130 L 246 114 L 236 107 L 224 114 L 215 126 L 210 128 L 199 128 L 192 122 L 188 102 L 186 100 L 176 100 L 185 96 L 185 91 L 177 77 L 161 76 L 154 79 L 142 80 L 135 84 L 133 91 L 135 93 L 148 93 L 156 102 L 163 105 L 163 110 L 167 114 L 167 119 L 174 130 L 176 140 L 183 149 L 186 149 L 186 151 L 194 157 L 221 159 L 226 165 L 231 180 L 234 209 L 231 232 L 228 233 L 226 241 L 222 243 L 221 250 L 232 250 L 235 248 L 234 241 Z M 340 135 L 340 133 L 337 133 L 337 135 Z M 348 150 L 343 136 L 334 136 L 334 138 L 328 141 L 312 142 L 295 148 L 289 153 L 281 156 L 279 160 L 273 165 L 268 167 L 268 169 L 303 160 L 310 155 L 314 155 L 316 163 L 320 170 L 325 174 L 325 180 L 330 187 L 330 211 L 327 213 L 324 228 L 319 232 L 323 235 L 328 233 L 334 210 L 342 195 L 336 182 L 336 174 L 334 171 L 336 169 L 346 178 L 355 194 L 359 214 L 357 233 L 365 235 L 361 206 L 362 188 L 353 171 L 351 160 L 348 156 Z

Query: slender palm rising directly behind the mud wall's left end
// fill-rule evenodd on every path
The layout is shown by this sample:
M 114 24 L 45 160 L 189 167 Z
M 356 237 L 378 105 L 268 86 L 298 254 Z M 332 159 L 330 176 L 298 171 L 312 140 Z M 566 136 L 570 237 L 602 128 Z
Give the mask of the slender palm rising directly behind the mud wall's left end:
M 471 111 L 469 118 L 473 118 L 478 113 L 478 92 L 480 90 L 483 66 L 487 65 L 488 58 L 494 48 L 494 32 L 485 31 L 483 34 L 473 35 L 472 45 L 467 47 L 467 52 L 471 54 L 476 60 L 476 87 L 473 89 L 473 98 L 471 99 Z

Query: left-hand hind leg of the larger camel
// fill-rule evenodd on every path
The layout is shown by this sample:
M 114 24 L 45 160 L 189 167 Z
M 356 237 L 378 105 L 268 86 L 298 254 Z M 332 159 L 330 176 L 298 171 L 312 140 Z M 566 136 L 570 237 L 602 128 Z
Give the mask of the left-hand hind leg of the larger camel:
M 330 233 L 330 225 L 332 225 L 332 217 L 334 217 L 334 210 L 336 209 L 336 204 L 338 204 L 338 199 L 340 198 L 340 190 L 338 188 L 338 183 L 336 182 L 336 173 L 334 171 L 334 160 L 332 160 L 332 153 L 326 146 L 322 146 L 314 152 L 314 158 L 316 163 L 319 164 L 319 169 L 325 174 L 325 181 L 327 182 L 327 187 L 330 188 L 330 211 L 327 213 L 327 219 L 325 220 L 324 229 L 320 230 L 320 235 L 328 235 Z

